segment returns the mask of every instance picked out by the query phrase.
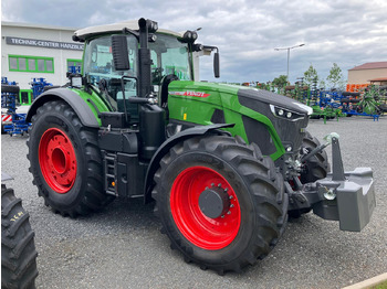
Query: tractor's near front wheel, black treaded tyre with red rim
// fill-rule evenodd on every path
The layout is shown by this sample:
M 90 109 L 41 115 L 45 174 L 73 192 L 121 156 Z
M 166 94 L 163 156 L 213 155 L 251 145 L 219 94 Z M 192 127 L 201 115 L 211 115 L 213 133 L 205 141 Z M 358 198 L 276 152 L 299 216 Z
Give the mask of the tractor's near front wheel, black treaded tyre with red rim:
M 200 181 L 190 179 L 190 173 L 197 173 Z M 190 190 L 179 190 L 186 175 Z M 287 222 L 287 194 L 273 161 L 263 158 L 257 146 L 245 146 L 231 137 L 195 137 L 176 144 L 160 161 L 154 179 L 156 186 L 151 195 L 156 200 L 155 213 L 161 220 L 161 232 L 187 263 L 197 263 L 202 269 L 210 268 L 222 275 L 254 265 L 275 246 Z M 217 183 L 210 184 L 212 180 Z M 192 186 L 194 182 L 197 188 Z M 182 214 L 177 213 L 186 197 L 195 193 L 202 195 L 207 190 L 220 190 L 220 194 L 227 193 L 226 200 L 231 200 L 223 203 L 221 214 L 206 218 L 199 203 L 181 210 Z M 224 213 L 224 208 L 230 214 Z M 205 221 L 190 218 L 190 213 Z M 219 239 L 210 234 L 220 226 L 200 227 L 212 221 L 223 224 L 222 220 L 229 223 L 224 228 L 227 233 Z M 240 225 L 230 225 L 236 220 L 234 224 Z M 186 229 L 190 224 L 197 228 L 194 233 Z

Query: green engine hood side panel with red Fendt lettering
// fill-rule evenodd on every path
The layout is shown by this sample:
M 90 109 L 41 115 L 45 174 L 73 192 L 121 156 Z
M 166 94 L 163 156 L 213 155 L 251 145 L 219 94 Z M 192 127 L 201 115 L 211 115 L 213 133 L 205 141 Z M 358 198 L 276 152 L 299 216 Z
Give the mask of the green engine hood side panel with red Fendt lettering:
M 223 124 L 234 124 L 234 127 L 227 130 L 232 136 L 240 136 L 248 143 L 251 142 L 251 138 L 247 132 L 252 131 L 257 135 L 260 131 L 268 131 L 265 132 L 266 142 L 270 142 L 271 147 L 265 154 L 276 160 L 285 152 L 276 129 L 264 114 L 240 104 L 238 94 L 242 88 L 226 84 L 172 82 L 169 85 L 168 96 L 170 120 L 207 126 L 215 124 L 217 119 L 222 119 Z M 255 121 L 257 126 L 250 126 L 248 130 L 245 118 Z M 259 126 L 260 129 L 258 129 Z

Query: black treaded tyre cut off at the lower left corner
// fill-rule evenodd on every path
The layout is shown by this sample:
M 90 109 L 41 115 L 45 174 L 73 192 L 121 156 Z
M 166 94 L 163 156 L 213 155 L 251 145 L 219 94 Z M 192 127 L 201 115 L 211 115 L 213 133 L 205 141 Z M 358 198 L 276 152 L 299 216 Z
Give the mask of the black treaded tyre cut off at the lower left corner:
M 29 213 L 1 185 L 1 288 L 35 288 L 36 249 Z

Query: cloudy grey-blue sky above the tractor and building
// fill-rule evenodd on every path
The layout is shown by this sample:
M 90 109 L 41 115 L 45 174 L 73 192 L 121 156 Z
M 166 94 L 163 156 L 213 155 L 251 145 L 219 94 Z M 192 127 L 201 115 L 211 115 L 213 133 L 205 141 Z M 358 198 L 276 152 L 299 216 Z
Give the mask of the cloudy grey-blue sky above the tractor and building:
M 201 28 L 198 43 L 220 49 L 223 82 L 268 82 L 286 74 L 290 81 L 312 64 L 321 78 L 337 63 L 347 69 L 366 62 L 387 61 L 385 0 L 2 0 L 1 20 L 85 28 L 142 17 L 160 28 Z M 215 81 L 212 58 L 202 57 L 200 76 Z

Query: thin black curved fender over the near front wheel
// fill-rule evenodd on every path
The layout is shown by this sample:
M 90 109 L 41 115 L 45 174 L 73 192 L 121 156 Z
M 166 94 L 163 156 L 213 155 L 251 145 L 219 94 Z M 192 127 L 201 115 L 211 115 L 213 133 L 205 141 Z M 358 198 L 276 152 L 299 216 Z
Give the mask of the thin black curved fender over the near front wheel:
M 194 128 L 185 129 L 185 130 L 174 135 L 172 137 L 167 139 L 165 142 L 163 142 L 163 144 L 158 148 L 158 150 L 155 152 L 154 157 L 151 158 L 147 173 L 146 173 L 145 185 L 144 185 L 144 188 L 145 188 L 145 192 L 144 192 L 145 202 L 147 203 L 150 201 L 150 193 L 151 193 L 151 189 L 154 186 L 154 183 L 153 183 L 154 174 L 156 173 L 157 169 L 159 168 L 159 163 L 160 163 L 163 157 L 166 153 L 168 153 L 170 148 L 172 148 L 175 144 L 177 144 L 178 142 L 181 142 L 186 139 L 197 137 L 197 136 L 203 136 L 210 131 L 215 131 L 215 130 L 218 130 L 221 128 L 230 128 L 233 126 L 234 126 L 234 124 L 217 124 L 217 125 L 210 125 L 210 126 L 197 126 Z M 228 132 L 224 131 L 224 133 L 228 133 Z

